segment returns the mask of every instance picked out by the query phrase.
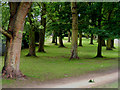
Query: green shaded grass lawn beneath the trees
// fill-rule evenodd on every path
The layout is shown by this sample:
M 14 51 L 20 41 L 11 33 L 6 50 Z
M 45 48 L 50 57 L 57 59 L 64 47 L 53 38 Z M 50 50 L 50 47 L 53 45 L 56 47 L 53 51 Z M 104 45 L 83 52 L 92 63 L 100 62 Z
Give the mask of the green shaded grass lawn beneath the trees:
M 39 80 L 53 80 L 64 77 L 75 77 L 89 71 L 96 71 L 108 67 L 115 67 L 118 63 L 118 48 L 107 51 L 103 47 L 104 58 L 94 58 L 97 52 L 97 41 L 94 45 L 89 45 L 89 39 L 83 39 L 83 47 L 78 47 L 79 60 L 69 61 L 71 54 L 71 43 L 64 38 L 66 48 L 58 48 L 46 40 L 46 53 L 36 53 L 38 57 L 26 57 L 28 49 L 21 52 L 20 70 L 27 77 Z M 38 47 L 36 47 L 36 51 Z M 3 63 L 2 63 L 3 65 Z M 1 69 L 0 69 L 1 70 Z M 3 85 L 14 82 L 15 80 L 3 79 Z

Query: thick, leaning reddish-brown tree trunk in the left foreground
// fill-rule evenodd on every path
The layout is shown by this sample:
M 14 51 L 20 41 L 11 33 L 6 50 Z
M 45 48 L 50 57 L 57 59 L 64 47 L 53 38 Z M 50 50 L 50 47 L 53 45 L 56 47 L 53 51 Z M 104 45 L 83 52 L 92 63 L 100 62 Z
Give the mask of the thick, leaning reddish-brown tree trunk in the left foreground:
M 28 13 L 31 3 L 10 2 L 9 5 L 11 16 L 8 31 L 11 32 L 12 38 L 7 38 L 7 51 L 5 55 L 2 76 L 7 76 L 7 78 L 21 78 L 24 77 L 19 69 L 22 32 L 24 28 L 25 17 Z

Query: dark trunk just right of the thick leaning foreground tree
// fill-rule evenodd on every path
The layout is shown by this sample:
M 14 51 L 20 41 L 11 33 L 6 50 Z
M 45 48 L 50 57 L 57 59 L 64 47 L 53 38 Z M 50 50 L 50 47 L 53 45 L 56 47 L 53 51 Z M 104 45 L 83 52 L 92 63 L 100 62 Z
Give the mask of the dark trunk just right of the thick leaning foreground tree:
M 28 14 L 31 28 L 29 31 L 29 53 L 27 56 L 36 56 L 36 54 L 35 54 L 35 30 L 34 30 L 34 26 L 32 25 L 33 21 L 31 19 L 33 19 L 33 16 L 31 14 L 31 12 L 32 12 L 32 9 L 30 10 L 30 12 Z

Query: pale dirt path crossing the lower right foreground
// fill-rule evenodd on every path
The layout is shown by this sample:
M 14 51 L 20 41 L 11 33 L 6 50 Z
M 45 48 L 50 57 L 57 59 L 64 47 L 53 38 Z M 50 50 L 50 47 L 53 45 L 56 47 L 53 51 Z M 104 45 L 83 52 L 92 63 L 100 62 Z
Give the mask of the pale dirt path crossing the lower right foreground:
M 94 79 L 95 82 L 89 83 L 88 81 L 90 79 Z M 91 88 L 114 81 L 118 81 L 117 69 L 109 69 L 107 71 L 100 70 L 76 78 L 64 78 L 60 80 L 47 81 L 38 83 L 37 85 L 27 85 L 24 88 Z

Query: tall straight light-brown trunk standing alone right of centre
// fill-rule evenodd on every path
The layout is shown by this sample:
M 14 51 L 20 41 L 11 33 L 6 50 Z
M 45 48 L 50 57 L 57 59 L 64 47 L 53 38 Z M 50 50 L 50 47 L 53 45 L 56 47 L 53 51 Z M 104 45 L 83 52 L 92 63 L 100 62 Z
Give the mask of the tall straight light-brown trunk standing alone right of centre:
M 71 11 L 72 11 L 72 50 L 71 57 L 78 59 L 78 14 L 77 14 L 77 2 L 71 2 Z

